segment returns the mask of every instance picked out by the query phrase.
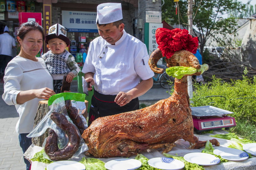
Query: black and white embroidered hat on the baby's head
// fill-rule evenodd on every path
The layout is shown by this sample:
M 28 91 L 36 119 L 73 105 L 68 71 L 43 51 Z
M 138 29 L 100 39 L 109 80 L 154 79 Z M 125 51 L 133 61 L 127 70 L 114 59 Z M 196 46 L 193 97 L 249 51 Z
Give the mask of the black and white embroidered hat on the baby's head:
M 59 38 L 67 43 L 67 46 L 70 44 L 70 40 L 67 37 L 68 28 L 60 24 L 55 24 L 49 28 L 49 34 L 45 36 L 45 43 L 48 44 L 49 40 L 54 38 Z

